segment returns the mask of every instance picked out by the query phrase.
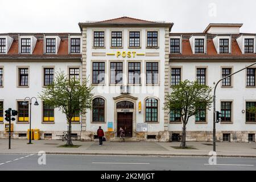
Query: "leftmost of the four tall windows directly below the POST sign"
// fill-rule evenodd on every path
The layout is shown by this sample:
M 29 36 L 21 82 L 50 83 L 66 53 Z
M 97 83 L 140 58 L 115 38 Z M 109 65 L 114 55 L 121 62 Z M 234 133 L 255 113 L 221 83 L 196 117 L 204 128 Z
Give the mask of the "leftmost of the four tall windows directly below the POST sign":
M 105 63 L 93 62 L 93 84 L 104 84 Z

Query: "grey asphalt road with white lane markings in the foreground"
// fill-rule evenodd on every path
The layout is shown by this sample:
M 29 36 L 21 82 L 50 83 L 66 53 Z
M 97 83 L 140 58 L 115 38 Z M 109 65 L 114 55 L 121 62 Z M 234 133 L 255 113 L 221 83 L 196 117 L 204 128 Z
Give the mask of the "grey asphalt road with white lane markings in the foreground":
M 256 170 L 256 158 L 217 158 L 217 165 L 209 165 L 207 157 L 46 155 L 46 164 L 38 164 L 39 158 L 37 154 L 0 154 L 0 171 Z M 40 160 L 41 163 L 43 161 Z

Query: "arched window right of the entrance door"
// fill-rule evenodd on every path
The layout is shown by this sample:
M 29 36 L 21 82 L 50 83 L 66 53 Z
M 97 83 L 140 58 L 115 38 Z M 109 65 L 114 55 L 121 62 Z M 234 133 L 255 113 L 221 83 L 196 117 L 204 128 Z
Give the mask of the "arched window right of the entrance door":
M 158 121 L 158 100 L 148 98 L 146 100 L 146 122 Z

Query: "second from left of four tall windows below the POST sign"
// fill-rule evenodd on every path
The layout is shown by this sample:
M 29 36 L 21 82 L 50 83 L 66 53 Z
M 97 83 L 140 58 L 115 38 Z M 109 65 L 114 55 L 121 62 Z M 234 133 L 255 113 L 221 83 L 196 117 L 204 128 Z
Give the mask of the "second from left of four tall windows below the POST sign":
M 110 63 L 110 84 L 122 84 L 123 63 Z

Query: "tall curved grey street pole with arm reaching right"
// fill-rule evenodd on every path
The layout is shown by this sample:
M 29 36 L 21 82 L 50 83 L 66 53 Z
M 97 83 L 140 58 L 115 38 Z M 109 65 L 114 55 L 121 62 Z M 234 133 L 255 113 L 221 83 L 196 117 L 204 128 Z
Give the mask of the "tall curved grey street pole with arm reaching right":
M 256 64 L 256 62 L 243 68 L 243 69 L 249 68 L 249 67 L 253 66 L 254 64 Z M 214 86 L 214 92 L 213 92 L 213 151 L 215 151 L 215 152 L 216 152 L 216 126 L 215 126 L 215 123 L 216 123 L 216 88 L 217 88 L 217 85 L 219 82 L 221 82 L 225 78 L 235 75 L 236 73 L 243 71 L 243 69 L 240 69 L 226 77 L 221 78 L 220 80 L 218 80 L 217 84 Z

